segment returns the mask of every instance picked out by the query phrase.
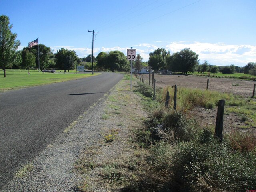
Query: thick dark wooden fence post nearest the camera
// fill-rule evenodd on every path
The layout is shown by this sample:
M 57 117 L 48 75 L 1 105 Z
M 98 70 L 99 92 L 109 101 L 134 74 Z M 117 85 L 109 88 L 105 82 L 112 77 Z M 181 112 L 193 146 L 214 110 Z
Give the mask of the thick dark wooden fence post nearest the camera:
M 222 140 L 225 100 L 219 100 L 214 136 Z

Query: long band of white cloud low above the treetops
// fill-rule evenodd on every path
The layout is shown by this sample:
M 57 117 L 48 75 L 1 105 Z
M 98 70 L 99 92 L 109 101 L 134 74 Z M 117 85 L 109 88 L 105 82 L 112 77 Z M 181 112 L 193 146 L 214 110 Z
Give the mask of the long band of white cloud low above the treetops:
M 137 50 L 137 54 L 140 54 L 144 61 L 149 58 L 149 53 L 164 47 L 166 50 L 170 50 L 171 53 L 178 52 L 184 48 L 190 48 L 190 50 L 196 52 L 199 55 L 201 62 L 207 60 L 213 65 L 238 65 L 245 66 L 248 62 L 256 62 L 256 46 L 255 45 L 227 45 L 222 42 L 218 43 L 202 43 L 202 42 L 166 42 L 161 46 L 155 44 L 141 43 L 133 45 L 133 48 Z M 91 48 L 75 48 L 72 46 L 54 46 L 51 47 L 56 52 L 60 48 L 67 48 L 75 50 L 78 57 L 83 58 L 92 53 Z M 130 47 L 95 47 L 94 56 L 97 56 L 100 52 L 109 52 L 118 50 L 127 54 L 127 49 Z

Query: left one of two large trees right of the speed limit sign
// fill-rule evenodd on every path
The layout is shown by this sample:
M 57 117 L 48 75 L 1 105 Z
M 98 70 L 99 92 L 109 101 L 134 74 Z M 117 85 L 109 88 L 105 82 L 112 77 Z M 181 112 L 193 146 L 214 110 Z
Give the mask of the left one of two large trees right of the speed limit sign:
M 159 69 L 165 69 L 167 52 L 164 48 L 158 48 L 154 52 L 150 52 L 148 65 L 152 67 L 153 70 L 158 71 Z

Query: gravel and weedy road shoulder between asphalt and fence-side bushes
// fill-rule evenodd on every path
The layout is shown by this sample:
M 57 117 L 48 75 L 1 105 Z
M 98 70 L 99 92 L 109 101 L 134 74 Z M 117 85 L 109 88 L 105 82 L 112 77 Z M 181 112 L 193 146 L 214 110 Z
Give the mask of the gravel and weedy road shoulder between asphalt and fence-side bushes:
M 136 82 L 133 82 L 136 83 Z M 147 114 L 141 98 L 121 80 L 109 93 L 84 112 L 70 127 L 4 186 L 2 192 L 114 191 L 132 176 L 126 167 L 134 155 L 130 132 Z M 123 169 L 120 177 L 108 177 L 108 168 Z

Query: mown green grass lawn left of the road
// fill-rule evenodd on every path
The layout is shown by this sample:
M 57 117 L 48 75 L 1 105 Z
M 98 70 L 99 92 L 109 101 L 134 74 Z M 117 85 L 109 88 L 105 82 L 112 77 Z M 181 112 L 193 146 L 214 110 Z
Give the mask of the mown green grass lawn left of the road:
M 76 71 L 72 71 L 76 72 Z M 98 75 L 95 73 L 93 76 Z M 27 70 L 6 70 L 6 78 L 4 71 L 0 70 L 0 92 L 12 89 L 26 88 L 31 86 L 45 85 L 68 80 L 75 80 L 92 76 L 91 72 L 87 73 L 42 73 L 38 70 L 30 70 L 28 75 Z

